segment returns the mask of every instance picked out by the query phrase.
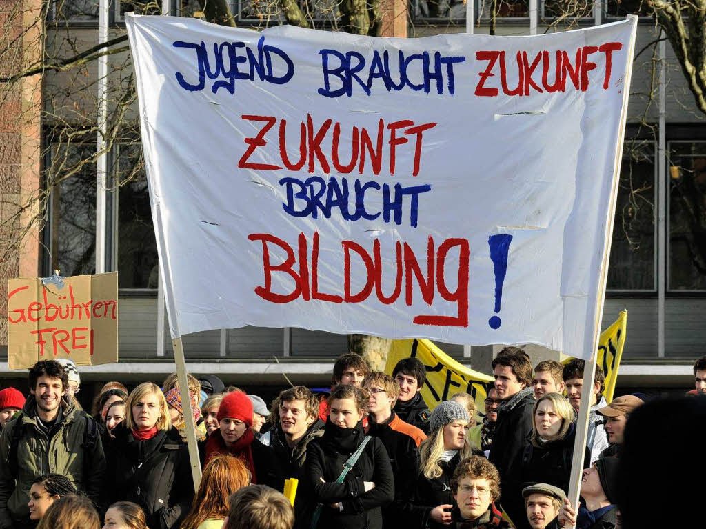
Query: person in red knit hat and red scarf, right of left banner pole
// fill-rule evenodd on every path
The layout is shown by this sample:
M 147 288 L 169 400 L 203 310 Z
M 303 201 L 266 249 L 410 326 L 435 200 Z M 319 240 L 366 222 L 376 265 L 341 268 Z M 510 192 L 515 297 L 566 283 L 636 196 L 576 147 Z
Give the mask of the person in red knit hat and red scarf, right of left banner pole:
M 275 461 L 275 452 L 255 439 L 253 403 L 242 391 L 232 391 L 222 400 L 216 416 L 218 429 L 206 441 L 206 462 L 217 453 L 240 458 L 250 471 L 253 484 L 268 485 L 280 492 L 285 479 Z

